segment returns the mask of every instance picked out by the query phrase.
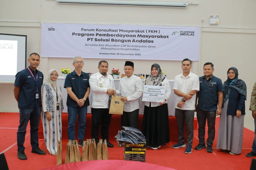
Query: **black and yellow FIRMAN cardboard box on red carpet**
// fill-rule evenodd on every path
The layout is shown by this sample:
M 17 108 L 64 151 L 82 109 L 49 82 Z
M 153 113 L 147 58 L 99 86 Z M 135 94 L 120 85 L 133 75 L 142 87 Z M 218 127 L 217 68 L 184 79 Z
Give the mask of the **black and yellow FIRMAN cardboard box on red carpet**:
M 146 159 L 146 142 L 139 144 L 124 144 L 124 160 L 133 160 L 145 162 Z

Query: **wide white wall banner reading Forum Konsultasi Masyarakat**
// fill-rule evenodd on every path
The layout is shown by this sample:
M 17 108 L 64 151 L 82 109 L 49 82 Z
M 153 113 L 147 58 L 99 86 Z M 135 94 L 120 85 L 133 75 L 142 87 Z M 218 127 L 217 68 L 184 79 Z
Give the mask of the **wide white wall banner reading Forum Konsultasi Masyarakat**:
M 199 27 L 43 23 L 43 57 L 199 60 Z

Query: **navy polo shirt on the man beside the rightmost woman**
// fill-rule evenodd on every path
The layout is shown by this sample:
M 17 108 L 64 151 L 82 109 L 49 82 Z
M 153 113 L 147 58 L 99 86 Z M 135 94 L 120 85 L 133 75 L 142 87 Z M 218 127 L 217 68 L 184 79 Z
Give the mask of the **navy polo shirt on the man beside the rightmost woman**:
M 212 75 L 212 77 L 207 80 L 205 76 L 202 76 L 199 78 L 199 83 L 200 91 L 198 92 L 197 109 L 216 111 L 219 98 L 218 92 L 224 91 L 221 79 Z

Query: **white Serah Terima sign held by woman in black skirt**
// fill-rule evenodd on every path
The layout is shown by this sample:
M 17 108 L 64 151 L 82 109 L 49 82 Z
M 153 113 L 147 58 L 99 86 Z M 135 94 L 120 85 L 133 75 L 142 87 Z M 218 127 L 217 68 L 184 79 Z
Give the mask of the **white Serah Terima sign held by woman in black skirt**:
M 165 87 L 145 85 L 142 101 L 164 102 Z

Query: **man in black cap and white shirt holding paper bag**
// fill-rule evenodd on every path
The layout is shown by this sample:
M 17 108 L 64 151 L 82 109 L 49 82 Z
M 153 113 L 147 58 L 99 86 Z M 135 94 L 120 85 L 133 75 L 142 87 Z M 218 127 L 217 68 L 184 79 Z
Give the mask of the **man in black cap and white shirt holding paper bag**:
M 138 129 L 139 98 L 142 94 L 142 81 L 133 75 L 134 63 L 126 61 L 124 64 L 125 77 L 119 82 L 117 95 L 123 96 L 124 112 L 121 115 L 121 128 L 128 126 Z

